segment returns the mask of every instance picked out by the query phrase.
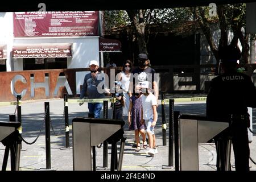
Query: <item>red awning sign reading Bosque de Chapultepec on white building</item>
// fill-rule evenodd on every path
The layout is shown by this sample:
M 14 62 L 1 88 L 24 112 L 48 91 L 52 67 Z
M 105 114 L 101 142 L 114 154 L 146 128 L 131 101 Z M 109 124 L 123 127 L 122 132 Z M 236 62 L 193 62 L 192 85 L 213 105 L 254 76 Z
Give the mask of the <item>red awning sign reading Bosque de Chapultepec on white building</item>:
M 72 57 L 72 44 L 30 44 L 13 47 L 13 58 Z

